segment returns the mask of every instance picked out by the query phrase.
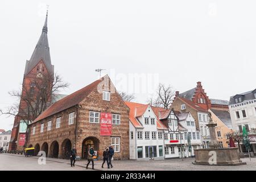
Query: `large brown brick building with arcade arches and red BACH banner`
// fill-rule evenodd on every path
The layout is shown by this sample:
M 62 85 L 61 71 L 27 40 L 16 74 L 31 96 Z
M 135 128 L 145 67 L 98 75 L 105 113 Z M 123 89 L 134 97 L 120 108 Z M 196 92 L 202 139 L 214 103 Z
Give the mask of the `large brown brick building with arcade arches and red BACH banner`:
M 110 114 L 112 120 L 112 129 L 107 129 L 110 134 L 101 131 L 105 114 Z M 35 147 L 36 152 L 45 151 L 49 157 L 65 158 L 72 146 L 82 158 L 87 158 L 90 146 L 101 157 L 105 147 L 112 144 L 114 159 L 129 158 L 129 107 L 108 76 L 49 106 L 29 125 L 29 130 L 30 147 Z

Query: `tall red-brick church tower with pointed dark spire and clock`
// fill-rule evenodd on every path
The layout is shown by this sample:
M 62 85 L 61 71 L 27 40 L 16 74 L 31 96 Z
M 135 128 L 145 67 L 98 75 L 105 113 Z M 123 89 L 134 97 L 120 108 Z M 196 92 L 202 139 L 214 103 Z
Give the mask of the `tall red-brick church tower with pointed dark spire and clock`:
M 29 92 L 37 92 L 38 90 L 35 89 L 35 83 L 40 82 L 40 80 L 42 80 L 44 76 L 52 76 L 53 78 L 54 75 L 54 67 L 51 64 L 51 56 L 49 53 L 47 19 L 48 11 L 39 41 L 36 44 L 30 60 L 26 61 L 26 67 L 22 83 L 22 97 L 25 97 L 27 90 L 29 90 Z M 52 82 L 50 81 L 49 84 L 52 84 Z M 51 86 L 49 86 L 49 88 L 51 88 Z M 47 102 L 50 101 L 51 96 L 47 98 Z M 27 104 L 24 103 L 24 101 L 20 100 L 19 113 L 22 112 L 21 110 L 26 110 L 26 107 Z M 22 119 L 22 117 L 20 117 L 19 115 L 20 114 L 16 115 L 14 119 L 14 126 L 11 133 L 9 150 L 22 150 L 24 146 L 26 132 L 24 132 L 24 129 L 22 130 L 22 127 L 24 126 L 20 127 L 24 118 Z

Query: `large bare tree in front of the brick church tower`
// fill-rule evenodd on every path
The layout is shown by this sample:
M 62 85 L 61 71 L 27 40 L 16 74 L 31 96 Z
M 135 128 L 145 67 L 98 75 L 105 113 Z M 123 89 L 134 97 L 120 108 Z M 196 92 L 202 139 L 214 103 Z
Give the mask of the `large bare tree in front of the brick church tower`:
M 37 78 L 30 85 L 22 85 L 22 89 L 9 92 L 10 96 L 15 97 L 19 103 L 14 103 L 6 110 L 0 109 L 1 114 L 8 117 L 13 115 L 19 118 L 19 122 L 25 122 L 27 125 L 26 141 L 28 135 L 28 125 L 37 118 L 49 105 L 52 104 L 52 96 L 59 93 L 60 90 L 69 86 L 63 82 L 62 78 L 55 75 L 45 75 Z

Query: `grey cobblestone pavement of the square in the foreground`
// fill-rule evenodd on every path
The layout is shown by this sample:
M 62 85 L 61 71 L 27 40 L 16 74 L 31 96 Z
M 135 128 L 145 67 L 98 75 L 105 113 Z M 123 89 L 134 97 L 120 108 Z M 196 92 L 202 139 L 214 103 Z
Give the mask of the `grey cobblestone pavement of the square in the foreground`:
M 81 160 L 76 162 L 76 167 L 70 167 L 69 160 L 64 159 L 53 159 L 47 158 L 46 165 L 38 164 L 38 156 L 32 156 L 25 158 L 24 155 L 15 155 L 15 154 L 0 154 L 0 170 L 78 170 L 78 171 L 91 171 L 92 166 L 89 165 L 88 169 L 85 169 L 86 160 Z M 94 168 L 96 170 L 105 170 L 105 171 L 244 171 L 252 170 L 256 171 L 256 158 L 243 158 L 242 161 L 246 162 L 246 165 L 242 166 L 203 166 L 203 165 L 194 165 L 192 161 L 195 159 L 166 159 L 161 161 L 136 161 L 136 160 L 114 160 L 114 168 L 108 169 L 101 168 L 102 161 L 96 161 Z M 22 164 L 19 166 L 18 164 Z

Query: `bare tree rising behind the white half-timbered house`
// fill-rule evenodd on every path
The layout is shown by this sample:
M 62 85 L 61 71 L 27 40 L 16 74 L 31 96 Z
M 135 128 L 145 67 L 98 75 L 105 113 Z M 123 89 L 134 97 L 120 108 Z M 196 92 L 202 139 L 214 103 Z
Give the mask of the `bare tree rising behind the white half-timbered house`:
M 156 104 L 158 104 L 160 107 L 164 107 L 164 109 L 169 109 L 175 96 L 175 90 L 172 88 L 172 86 L 165 86 L 164 84 L 160 83 L 156 93 Z

